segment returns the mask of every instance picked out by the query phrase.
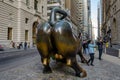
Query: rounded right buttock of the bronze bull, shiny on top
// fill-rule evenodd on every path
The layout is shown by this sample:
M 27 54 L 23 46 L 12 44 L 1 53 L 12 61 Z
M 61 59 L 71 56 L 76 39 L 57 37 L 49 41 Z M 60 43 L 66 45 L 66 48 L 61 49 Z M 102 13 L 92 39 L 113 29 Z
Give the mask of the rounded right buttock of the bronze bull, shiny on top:
M 71 24 L 67 21 L 59 21 L 54 25 L 54 42 L 58 53 L 63 56 L 74 55 L 78 44 L 72 34 Z

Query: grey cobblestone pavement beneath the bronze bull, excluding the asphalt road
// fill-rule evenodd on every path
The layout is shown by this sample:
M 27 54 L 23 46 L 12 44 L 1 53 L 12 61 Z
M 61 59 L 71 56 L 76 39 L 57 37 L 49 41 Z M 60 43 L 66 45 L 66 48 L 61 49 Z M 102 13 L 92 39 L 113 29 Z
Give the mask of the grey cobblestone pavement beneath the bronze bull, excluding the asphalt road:
M 87 66 L 80 63 L 78 56 L 77 58 L 79 64 L 87 71 L 86 78 L 75 77 L 74 70 L 55 61 L 50 63 L 53 73 L 43 74 L 40 57 L 36 56 L 32 62 L 0 72 L 0 80 L 120 80 L 119 65 L 95 58 L 95 66 Z

